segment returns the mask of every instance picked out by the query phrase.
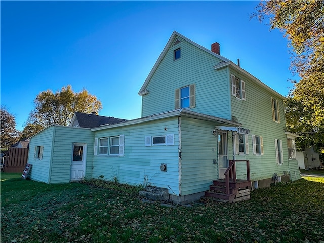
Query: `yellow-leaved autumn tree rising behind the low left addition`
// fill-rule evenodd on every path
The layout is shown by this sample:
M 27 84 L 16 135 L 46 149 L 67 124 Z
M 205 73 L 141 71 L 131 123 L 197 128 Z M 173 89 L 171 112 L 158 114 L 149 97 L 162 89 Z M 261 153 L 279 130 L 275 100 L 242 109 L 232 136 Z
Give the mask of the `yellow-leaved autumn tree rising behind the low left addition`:
M 70 85 L 62 87 L 56 93 L 51 90 L 39 93 L 34 105 L 35 108 L 30 112 L 26 123 L 29 124 L 26 131 L 32 128 L 30 124 L 33 124 L 33 129 L 37 128 L 36 130 L 41 128 L 40 126 L 45 128 L 52 124 L 68 126 L 74 112 L 98 114 L 102 109 L 102 104 L 96 96 L 89 94 L 85 89 L 74 92 Z

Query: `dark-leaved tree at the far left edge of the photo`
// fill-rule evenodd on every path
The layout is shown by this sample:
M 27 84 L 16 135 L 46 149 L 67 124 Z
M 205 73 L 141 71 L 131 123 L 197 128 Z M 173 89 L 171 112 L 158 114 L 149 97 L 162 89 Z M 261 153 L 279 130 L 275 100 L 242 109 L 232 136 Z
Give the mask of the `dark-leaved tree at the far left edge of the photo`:
M 1 134 L 0 134 L 0 146 L 2 150 L 8 150 L 11 145 L 19 141 L 20 132 L 16 130 L 15 116 L 8 112 L 6 106 L 1 105 Z

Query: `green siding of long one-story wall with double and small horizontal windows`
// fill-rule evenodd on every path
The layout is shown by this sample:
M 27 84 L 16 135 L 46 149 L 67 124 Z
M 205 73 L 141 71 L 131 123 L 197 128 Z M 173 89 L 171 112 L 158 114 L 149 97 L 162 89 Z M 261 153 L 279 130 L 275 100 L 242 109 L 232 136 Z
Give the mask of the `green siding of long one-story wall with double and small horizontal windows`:
M 147 178 L 148 184 L 168 188 L 170 194 L 179 195 L 178 133 L 178 117 L 95 131 L 95 138 L 124 134 L 125 145 L 124 156 L 94 156 L 93 178 L 103 175 L 105 180 L 113 180 L 116 177 L 118 182 L 132 185 L 143 185 Z M 145 146 L 145 136 L 167 134 L 174 134 L 173 146 Z M 167 164 L 166 172 L 160 171 L 162 163 Z

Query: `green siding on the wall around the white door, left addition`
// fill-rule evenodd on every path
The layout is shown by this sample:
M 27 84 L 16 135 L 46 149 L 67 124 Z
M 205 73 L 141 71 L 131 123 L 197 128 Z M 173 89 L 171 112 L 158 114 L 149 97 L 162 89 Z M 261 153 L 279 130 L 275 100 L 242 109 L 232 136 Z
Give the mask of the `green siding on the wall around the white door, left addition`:
M 50 183 L 70 181 L 73 143 L 87 144 L 86 178 L 91 178 L 94 134 L 90 129 L 57 126 L 53 146 Z

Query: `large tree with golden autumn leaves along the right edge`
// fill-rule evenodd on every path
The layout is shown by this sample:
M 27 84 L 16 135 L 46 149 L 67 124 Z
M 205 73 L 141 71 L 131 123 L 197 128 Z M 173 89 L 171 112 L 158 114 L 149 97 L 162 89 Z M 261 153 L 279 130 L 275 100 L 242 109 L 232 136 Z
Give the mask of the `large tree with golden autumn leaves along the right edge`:
M 291 70 L 300 77 L 286 101 L 287 128 L 301 135 L 301 147 L 311 143 L 324 154 L 324 1 L 269 0 L 256 10 L 252 17 L 288 38 Z

